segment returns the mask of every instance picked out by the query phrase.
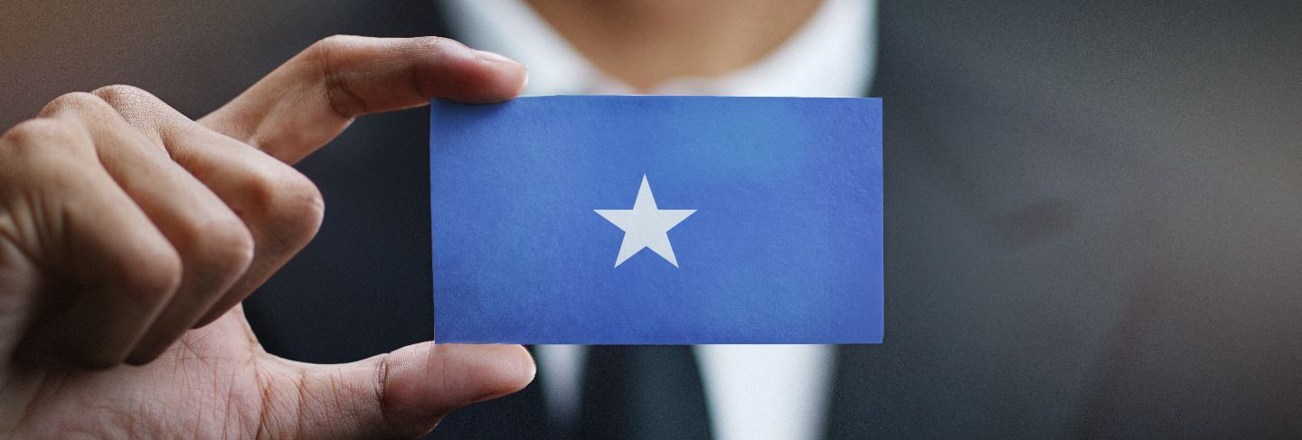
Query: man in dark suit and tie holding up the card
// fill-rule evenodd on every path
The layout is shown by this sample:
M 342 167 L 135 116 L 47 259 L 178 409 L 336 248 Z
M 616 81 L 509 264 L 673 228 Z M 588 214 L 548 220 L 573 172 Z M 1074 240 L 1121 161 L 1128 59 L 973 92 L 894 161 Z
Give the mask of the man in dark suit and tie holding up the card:
M 349 25 L 277 22 L 266 33 L 293 36 L 229 44 L 275 53 L 318 34 L 445 34 L 521 59 L 531 92 L 776 95 L 786 94 L 783 78 L 806 77 L 766 66 L 784 65 L 801 42 L 836 40 L 815 38 L 831 1 L 788 3 L 796 9 L 777 18 L 667 13 L 676 3 L 477 4 L 309 8 L 301 14 L 340 13 Z M 794 65 L 819 73 L 801 85 L 885 103 L 883 345 L 785 357 L 823 363 L 771 370 L 798 371 L 779 372 L 790 380 L 777 384 L 743 381 L 794 389 L 755 406 L 724 391 L 750 376 L 720 368 L 729 357 L 710 348 L 535 348 L 534 385 L 454 413 L 435 435 L 727 436 L 741 432 L 728 422 L 741 407 L 742 420 L 835 439 L 1297 436 L 1297 16 L 1295 4 L 1269 3 L 884 1 L 871 38 L 794 52 Z M 762 22 L 764 33 L 738 33 L 767 36 L 690 27 L 712 22 Z M 712 52 L 689 36 L 730 43 Z M 521 39 L 536 44 L 510 44 Z M 819 61 L 827 52 L 842 60 Z M 225 98 L 185 96 L 232 89 L 258 62 L 232 57 L 193 73 L 204 90 L 159 85 L 194 112 Z M 746 87 L 746 77 L 775 89 Z M 336 38 L 197 121 L 109 87 L 56 99 L 8 129 L 0 432 L 410 436 L 523 387 L 534 368 L 518 348 L 400 348 L 431 327 L 424 116 L 358 118 L 309 156 L 353 116 L 427 96 L 501 100 L 522 82 L 512 61 L 449 40 Z M 299 159 L 312 185 L 285 165 Z M 316 229 L 318 189 L 331 213 L 280 268 Z M 268 276 L 247 309 L 236 305 Z M 298 361 L 396 351 L 312 366 L 260 351 L 251 335 Z M 775 353 L 756 358 L 784 358 Z M 676 367 L 658 368 L 664 359 Z M 145 366 L 77 367 L 120 362 Z M 697 383 L 655 387 L 667 370 L 693 368 Z M 673 393 L 590 392 L 621 383 Z M 793 411 L 746 413 L 769 401 Z M 667 402 L 681 404 L 668 413 L 674 423 L 647 417 Z M 591 415 L 612 407 L 617 415 Z M 788 415 L 803 424 L 767 420 Z

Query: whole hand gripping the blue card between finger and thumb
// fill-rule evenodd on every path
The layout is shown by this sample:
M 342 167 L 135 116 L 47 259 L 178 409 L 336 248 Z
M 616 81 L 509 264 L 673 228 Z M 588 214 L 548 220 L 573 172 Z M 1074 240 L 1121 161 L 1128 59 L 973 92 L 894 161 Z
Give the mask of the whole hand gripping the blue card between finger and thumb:
M 335 36 L 199 121 L 111 86 L 10 129 L 0 437 L 419 436 L 523 388 L 519 346 L 276 358 L 238 306 L 320 225 L 320 194 L 288 164 L 359 115 L 499 102 L 523 82 L 519 64 L 447 39 Z

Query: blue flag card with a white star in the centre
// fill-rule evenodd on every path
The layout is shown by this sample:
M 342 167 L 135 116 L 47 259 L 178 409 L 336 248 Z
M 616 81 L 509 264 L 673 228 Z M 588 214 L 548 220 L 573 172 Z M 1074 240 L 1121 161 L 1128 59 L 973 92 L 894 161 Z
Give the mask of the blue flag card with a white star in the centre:
M 881 341 L 879 99 L 430 113 L 440 344 Z

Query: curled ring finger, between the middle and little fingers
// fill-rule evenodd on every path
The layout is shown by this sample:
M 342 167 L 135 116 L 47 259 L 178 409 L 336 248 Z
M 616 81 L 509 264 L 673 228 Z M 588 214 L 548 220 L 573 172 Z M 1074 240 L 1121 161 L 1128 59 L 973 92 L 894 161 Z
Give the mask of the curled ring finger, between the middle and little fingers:
M 109 104 L 152 104 L 142 95 L 147 94 L 134 87 L 109 86 L 65 95 L 46 108 L 48 115 L 72 113 L 91 128 L 100 164 L 181 256 L 176 294 L 128 358 L 137 364 L 152 361 L 190 329 L 245 273 L 254 254 L 243 221 L 174 163 L 161 139 L 133 128 Z

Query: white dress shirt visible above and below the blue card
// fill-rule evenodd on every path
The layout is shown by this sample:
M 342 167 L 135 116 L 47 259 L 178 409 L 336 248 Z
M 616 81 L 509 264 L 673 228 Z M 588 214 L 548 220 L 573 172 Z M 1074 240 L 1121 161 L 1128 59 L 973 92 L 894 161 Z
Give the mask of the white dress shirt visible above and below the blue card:
M 633 89 L 602 73 L 519 0 L 448 0 L 456 35 L 529 68 L 526 95 L 620 95 Z M 859 96 L 872 78 L 875 0 L 824 0 L 789 40 L 758 62 L 717 78 L 674 78 L 656 95 Z M 832 380 L 827 345 L 699 345 L 716 439 L 815 439 Z M 538 346 L 548 411 L 578 414 L 586 348 Z

